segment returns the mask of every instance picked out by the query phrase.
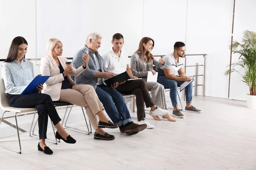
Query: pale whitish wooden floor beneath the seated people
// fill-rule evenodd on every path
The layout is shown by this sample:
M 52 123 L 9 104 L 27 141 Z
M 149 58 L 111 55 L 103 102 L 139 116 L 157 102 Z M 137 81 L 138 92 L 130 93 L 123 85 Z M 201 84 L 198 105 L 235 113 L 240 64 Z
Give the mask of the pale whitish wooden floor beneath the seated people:
M 54 152 L 50 156 L 37 150 L 38 139 L 24 133 L 22 154 L 0 147 L 0 170 L 256 170 L 256 110 L 241 101 L 193 100 L 203 113 L 183 112 L 185 118 L 177 122 L 155 121 L 147 114 L 155 128 L 134 136 L 106 129 L 116 139 L 98 141 L 68 131 L 77 143 L 47 143 Z M 72 125 L 81 128 L 84 122 Z M 0 144 L 18 148 L 16 140 L 12 136 Z

